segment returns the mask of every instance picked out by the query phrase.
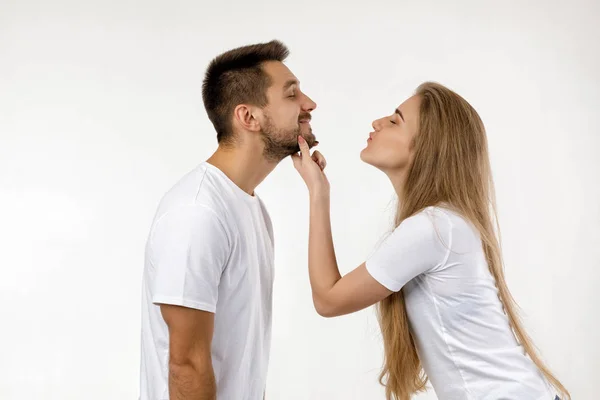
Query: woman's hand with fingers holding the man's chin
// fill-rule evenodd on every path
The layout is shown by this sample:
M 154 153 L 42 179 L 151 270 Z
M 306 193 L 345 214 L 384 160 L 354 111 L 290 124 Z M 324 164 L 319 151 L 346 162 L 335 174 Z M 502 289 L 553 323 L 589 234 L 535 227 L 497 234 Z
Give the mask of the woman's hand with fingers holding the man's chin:
M 310 155 L 308 143 L 302 136 L 298 136 L 298 146 L 300 146 L 300 155 L 293 154 L 292 161 L 294 168 L 300 174 L 308 192 L 311 196 L 329 195 L 329 181 L 323 170 L 327 165 L 325 157 L 318 151 Z

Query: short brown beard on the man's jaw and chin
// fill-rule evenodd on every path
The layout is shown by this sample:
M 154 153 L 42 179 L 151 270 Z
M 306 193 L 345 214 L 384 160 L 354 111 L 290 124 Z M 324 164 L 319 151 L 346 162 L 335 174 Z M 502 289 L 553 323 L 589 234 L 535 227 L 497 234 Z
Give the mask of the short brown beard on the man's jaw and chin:
M 299 119 L 303 119 L 305 115 L 301 115 Z M 298 126 L 293 129 L 277 129 L 273 124 L 273 120 L 267 116 L 266 124 L 261 131 L 263 143 L 265 149 L 263 156 L 269 161 L 281 161 L 287 156 L 296 154 L 300 151 L 298 146 L 298 136 L 302 137 L 308 143 L 308 147 L 315 145 L 315 135 L 312 133 L 312 128 L 309 128 L 308 133 L 302 134 L 302 127 L 300 122 Z

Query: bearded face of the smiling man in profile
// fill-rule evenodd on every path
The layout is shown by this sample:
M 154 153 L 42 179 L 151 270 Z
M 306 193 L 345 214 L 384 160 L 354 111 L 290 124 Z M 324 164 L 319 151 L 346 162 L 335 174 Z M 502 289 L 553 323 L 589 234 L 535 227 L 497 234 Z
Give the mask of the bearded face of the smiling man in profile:
M 272 80 L 267 89 L 269 103 L 261 121 L 264 156 L 280 161 L 300 151 L 300 135 L 309 147 L 314 146 L 316 138 L 310 126 L 310 113 L 317 105 L 300 90 L 298 79 L 283 63 L 270 61 L 264 63 L 263 68 Z

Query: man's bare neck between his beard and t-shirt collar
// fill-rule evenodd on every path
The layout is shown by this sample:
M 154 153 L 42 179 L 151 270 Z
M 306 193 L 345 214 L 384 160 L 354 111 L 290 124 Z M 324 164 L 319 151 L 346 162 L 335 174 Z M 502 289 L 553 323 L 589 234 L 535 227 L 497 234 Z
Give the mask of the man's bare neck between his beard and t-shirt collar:
M 240 189 L 254 196 L 254 189 L 275 169 L 279 162 L 267 161 L 262 149 L 219 148 L 208 160 Z

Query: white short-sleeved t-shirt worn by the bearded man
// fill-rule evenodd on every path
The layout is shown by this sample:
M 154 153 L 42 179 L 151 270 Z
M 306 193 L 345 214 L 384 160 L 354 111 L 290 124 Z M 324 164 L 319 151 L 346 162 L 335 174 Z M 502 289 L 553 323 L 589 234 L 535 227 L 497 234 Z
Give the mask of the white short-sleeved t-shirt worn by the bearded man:
M 158 304 L 215 314 L 217 398 L 263 398 L 271 342 L 273 229 L 258 196 L 203 162 L 162 199 L 146 244 L 140 400 L 169 399 Z

